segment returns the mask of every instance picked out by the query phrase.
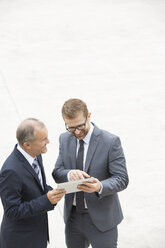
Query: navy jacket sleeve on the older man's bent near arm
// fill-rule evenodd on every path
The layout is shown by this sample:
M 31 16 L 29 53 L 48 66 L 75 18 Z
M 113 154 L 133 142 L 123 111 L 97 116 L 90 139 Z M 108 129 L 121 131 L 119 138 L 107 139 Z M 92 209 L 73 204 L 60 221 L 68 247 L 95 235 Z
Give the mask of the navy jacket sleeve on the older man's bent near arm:
M 23 201 L 22 182 L 12 170 L 0 173 L 0 196 L 4 213 L 11 219 L 28 218 L 54 209 L 46 194 Z

